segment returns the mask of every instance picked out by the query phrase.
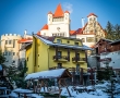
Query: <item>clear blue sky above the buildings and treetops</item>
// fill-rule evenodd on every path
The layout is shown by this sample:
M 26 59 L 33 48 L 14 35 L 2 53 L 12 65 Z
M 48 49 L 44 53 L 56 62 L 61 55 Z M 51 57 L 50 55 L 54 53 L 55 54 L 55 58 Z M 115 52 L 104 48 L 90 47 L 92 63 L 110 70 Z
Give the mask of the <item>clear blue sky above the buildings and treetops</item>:
M 120 0 L 0 0 L 0 35 L 37 33 L 47 23 L 47 13 L 55 13 L 61 3 L 71 11 L 71 29 L 82 27 L 81 19 L 95 13 L 105 28 L 107 22 L 120 24 Z

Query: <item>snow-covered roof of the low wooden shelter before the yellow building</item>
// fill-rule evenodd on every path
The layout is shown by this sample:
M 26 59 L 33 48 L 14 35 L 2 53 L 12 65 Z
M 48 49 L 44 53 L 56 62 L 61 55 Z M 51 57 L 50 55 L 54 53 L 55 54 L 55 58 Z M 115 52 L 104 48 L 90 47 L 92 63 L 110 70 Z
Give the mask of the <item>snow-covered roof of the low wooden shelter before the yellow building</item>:
M 27 79 L 36 79 L 36 78 L 55 78 L 55 77 L 60 77 L 65 69 L 57 69 L 57 70 L 49 70 L 49 71 L 43 71 L 43 72 L 37 72 L 37 73 L 32 73 L 28 74 L 25 77 L 25 81 Z

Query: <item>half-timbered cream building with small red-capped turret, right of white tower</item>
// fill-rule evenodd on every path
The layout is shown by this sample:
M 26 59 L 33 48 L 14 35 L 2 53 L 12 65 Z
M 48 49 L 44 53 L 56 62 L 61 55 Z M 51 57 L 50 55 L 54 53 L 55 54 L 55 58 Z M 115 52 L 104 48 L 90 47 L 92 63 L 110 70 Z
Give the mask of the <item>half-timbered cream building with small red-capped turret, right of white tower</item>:
M 94 13 L 91 13 L 87 16 L 87 23 L 85 25 L 83 24 L 82 28 L 79 28 L 77 30 L 71 33 L 71 37 L 82 39 L 83 45 L 91 48 L 94 48 L 96 42 L 100 38 L 105 38 L 105 36 L 106 33 L 100 26 L 100 24 L 97 22 L 97 15 L 95 15 Z

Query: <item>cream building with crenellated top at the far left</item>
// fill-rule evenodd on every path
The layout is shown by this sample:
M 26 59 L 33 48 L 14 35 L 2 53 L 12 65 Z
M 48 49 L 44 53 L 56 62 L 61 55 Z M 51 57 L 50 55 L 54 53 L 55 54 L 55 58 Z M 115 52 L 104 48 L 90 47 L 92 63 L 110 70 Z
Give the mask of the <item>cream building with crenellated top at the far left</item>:
M 21 38 L 21 35 L 16 34 L 4 34 L 1 36 L 1 50 L 5 57 L 5 65 L 13 65 L 17 68 L 20 59 L 20 46 L 17 44 L 17 40 L 20 40 Z

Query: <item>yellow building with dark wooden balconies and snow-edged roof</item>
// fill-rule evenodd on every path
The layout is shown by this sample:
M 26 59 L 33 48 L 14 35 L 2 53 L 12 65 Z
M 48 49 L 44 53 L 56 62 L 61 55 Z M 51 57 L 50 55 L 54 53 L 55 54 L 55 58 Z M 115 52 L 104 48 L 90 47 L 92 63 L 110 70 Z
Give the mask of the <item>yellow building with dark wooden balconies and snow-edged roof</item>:
M 27 74 L 60 68 L 87 69 L 84 46 L 80 39 L 33 35 L 26 47 Z

